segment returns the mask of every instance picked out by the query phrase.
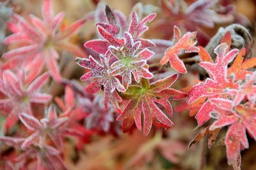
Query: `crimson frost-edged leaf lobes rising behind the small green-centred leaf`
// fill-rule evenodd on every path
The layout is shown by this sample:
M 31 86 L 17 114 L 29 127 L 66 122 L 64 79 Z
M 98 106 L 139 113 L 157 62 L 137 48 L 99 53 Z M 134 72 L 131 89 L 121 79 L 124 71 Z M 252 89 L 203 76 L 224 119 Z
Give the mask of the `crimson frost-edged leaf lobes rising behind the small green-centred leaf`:
M 100 6 L 102 6 L 102 4 L 100 4 Z M 115 46 L 115 48 L 124 48 L 125 37 L 122 36 L 125 32 L 125 22 L 127 22 L 127 20 L 124 19 L 124 15 L 121 14 L 120 11 L 113 11 L 113 13 L 109 15 L 114 17 L 115 20 L 111 19 L 112 22 L 109 22 L 106 16 L 102 15 L 102 10 L 97 10 L 99 10 L 97 11 L 97 16 L 99 15 L 98 17 L 100 17 L 100 22 L 97 22 L 96 24 L 97 31 L 103 39 L 93 39 L 91 41 L 87 41 L 86 43 L 84 43 L 84 47 L 92 48 L 95 52 L 101 54 L 106 53 L 109 46 Z M 141 43 L 141 49 L 155 46 L 152 41 L 140 38 L 140 35 L 148 29 L 145 24 L 147 22 L 151 22 L 155 17 L 156 13 L 152 13 L 147 17 L 143 18 L 141 21 L 138 21 L 138 15 L 135 11 L 132 11 L 131 24 L 129 25 L 129 29 L 126 32 L 129 32 L 132 35 L 132 39 L 134 42 Z

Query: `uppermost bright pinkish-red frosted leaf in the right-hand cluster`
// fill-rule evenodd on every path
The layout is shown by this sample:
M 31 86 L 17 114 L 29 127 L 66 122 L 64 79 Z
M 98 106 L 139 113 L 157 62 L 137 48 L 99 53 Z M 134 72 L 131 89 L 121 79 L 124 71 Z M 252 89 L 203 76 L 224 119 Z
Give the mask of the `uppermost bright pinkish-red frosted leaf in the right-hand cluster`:
M 237 87 L 237 83 L 234 83 L 230 78 L 228 78 L 227 67 L 228 64 L 236 57 L 239 50 L 233 49 L 227 52 L 227 48 L 228 45 L 226 43 L 222 43 L 215 48 L 214 53 L 217 55 L 215 63 L 211 62 L 211 60 L 210 62 L 200 62 L 199 65 L 206 69 L 210 78 L 207 78 L 203 83 L 198 83 L 191 88 L 188 95 L 188 103 L 193 103 L 200 97 L 220 94 L 220 92 L 223 92 L 223 90 L 228 87 Z M 209 60 L 209 57 L 207 58 Z

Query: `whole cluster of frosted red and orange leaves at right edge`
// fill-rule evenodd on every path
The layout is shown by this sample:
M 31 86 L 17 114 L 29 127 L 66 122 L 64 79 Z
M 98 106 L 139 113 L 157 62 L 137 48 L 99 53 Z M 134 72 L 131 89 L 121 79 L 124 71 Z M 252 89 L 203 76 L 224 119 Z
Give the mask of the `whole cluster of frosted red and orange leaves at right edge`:
M 225 137 L 228 164 L 232 164 L 234 169 L 240 169 L 240 151 L 249 147 L 246 131 L 256 139 L 256 130 L 253 127 L 256 121 L 256 73 L 246 70 L 255 66 L 255 61 L 248 59 L 243 62 L 244 48 L 240 52 L 236 48 L 230 50 L 231 36 L 228 34 L 227 32 L 221 44 L 214 49 L 215 62 L 209 53 L 200 47 L 202 62 L 199 65 L 204 67 L 209 78 L 190 89 L 187 108 L 191 111 L 199 108 L 195 117 L 199 126 L 210 118 L 217 119 L 209 127 L 209 132 L 216 131 L 214 139 L 222 127 L 228 126 Z M 233 60 L 232 66 L 228 67 Z M 200 138 L 204 136 L 205 134 Z

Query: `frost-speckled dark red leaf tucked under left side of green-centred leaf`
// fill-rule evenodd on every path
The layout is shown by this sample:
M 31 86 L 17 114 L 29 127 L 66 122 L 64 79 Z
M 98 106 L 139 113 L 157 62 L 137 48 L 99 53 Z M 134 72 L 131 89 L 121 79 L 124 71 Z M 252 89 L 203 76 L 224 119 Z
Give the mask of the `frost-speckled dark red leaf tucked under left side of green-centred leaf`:
M 86 87 L 86 91 L 90 93 L 97 93 L 100 91 L 101 86 L 104 87 L 104 105 L 106 111 L 108 110 L 108 103 L 119 109 L 118 101 L 122 101 L 122 98 L 118 95 L 116 90 L 119 92 L 125 92 L 124 86 L 120 83 L 118 78 L 113 76 L 111 67 L 109 66 L 109 59 L 111 53 L 108 51 L 105 55 L 100 55 L 100 61 L 102 64 L 97 62 L 92 56 L 89 59 L 76 58 L 77 64 L 86 69 L 91 69 L 88 73 L 81 77 L 81 80 L 94 79 L 90 85 Z

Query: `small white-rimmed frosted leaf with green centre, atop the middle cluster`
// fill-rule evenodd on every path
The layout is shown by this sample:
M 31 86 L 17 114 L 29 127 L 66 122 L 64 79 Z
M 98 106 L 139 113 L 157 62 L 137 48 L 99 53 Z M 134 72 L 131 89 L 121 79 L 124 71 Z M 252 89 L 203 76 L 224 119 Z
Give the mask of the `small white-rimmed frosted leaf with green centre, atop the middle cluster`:
M 147 48 L 139 50 L 141 43 L 134 39 L 129 32 L 124 32 L 125 43 L 121 48 L 109 46 L 110 52 L 116 57 L 117 61 L 111 64 L 114 76 L 122 75 L 122 83 L 125 89 L 132 83 L 132 74 L 136 82 L 142 78 L 152 78 L 154 75 L 147 69 L 147 60 L 154 55 L 154 52 Z

